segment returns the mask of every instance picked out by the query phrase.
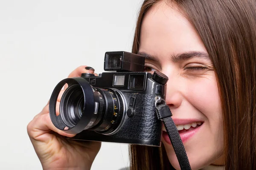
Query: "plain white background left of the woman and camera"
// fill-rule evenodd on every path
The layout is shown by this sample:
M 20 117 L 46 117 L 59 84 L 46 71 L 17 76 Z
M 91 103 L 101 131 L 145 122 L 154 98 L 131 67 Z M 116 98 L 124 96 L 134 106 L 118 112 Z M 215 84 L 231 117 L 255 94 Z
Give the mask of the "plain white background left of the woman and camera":
M 131 51 L 141 0 L 0 0 L 0 169 L 40 170 L 26 126 L 79 65 Z M 127 167 L 128 145 L 102 144 L 92 170 Z

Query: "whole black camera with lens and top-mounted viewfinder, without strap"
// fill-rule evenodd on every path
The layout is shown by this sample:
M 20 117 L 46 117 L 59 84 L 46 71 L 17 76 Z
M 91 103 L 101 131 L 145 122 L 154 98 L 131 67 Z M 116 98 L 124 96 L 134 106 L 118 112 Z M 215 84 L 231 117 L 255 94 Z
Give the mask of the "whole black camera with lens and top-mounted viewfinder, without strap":
M 104 69 L 112 72 L 62 80 L 49 103 L 53 124 L 78 133 L 70 139 L 160 146 L 162 123 L 155 98 L 165 99 L 168 77 L 143 72 L 144 61 L 137 54 L 106 52 Z M 68 88 L 56 116 L 56 100 L 65 83 Z

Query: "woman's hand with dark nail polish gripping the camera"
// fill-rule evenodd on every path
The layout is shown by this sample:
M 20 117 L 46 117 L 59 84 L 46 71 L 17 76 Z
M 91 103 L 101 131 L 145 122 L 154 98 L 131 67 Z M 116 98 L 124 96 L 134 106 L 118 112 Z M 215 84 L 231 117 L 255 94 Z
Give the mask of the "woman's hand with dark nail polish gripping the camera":
M 80 77 L 82 73 L 94 74 L 94 70 L 90 68 L 87 70 L 86 67 L 76 68 L 69 78 Z M 64 91 L 65 89 L 61 90 L 60 94 Z M 56 105 L 59 105 L 60 101 L 61 95 Z M 101 142 L 78 142 L 66 139 L 66 136 L 73 137 L 75 134 L 59 130 L 52 124 L 49 116 L 49 103 L 29 123 L 27 131 L 42 167 L 46 170 L 61 168 L 89 170 L 101 146 Z

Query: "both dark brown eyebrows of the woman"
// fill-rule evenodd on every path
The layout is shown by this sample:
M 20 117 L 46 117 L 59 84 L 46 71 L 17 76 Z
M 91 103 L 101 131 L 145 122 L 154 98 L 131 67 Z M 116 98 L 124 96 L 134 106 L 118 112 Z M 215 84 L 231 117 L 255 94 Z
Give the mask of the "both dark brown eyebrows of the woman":
M 158 59 L 157 56 L 147 54 L 145 52 L 138 52 L 138 54 L 142 55 L 146 59 L 149 59 L 149 60 L 160 63 L 160 60 Z M 189 52 L 186 52 L 186 53 L 170 56 L 170 59 L 171 59 L 172 62 L 179 62 L 179 61 L 186 60 L 186 59 L 191 59 L 191 58 L 209 59 L 209 55 L 205 52 L 202 52 L 202 51 L 189 51 Z

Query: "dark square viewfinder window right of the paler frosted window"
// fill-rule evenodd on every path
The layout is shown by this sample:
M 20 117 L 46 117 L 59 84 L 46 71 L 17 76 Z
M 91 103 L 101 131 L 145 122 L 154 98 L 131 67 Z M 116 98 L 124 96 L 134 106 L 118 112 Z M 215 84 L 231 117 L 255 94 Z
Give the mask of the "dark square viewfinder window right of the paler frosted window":
M 129 89 L 143 89 L 144 74 L 131 74 L 129 77 Z

